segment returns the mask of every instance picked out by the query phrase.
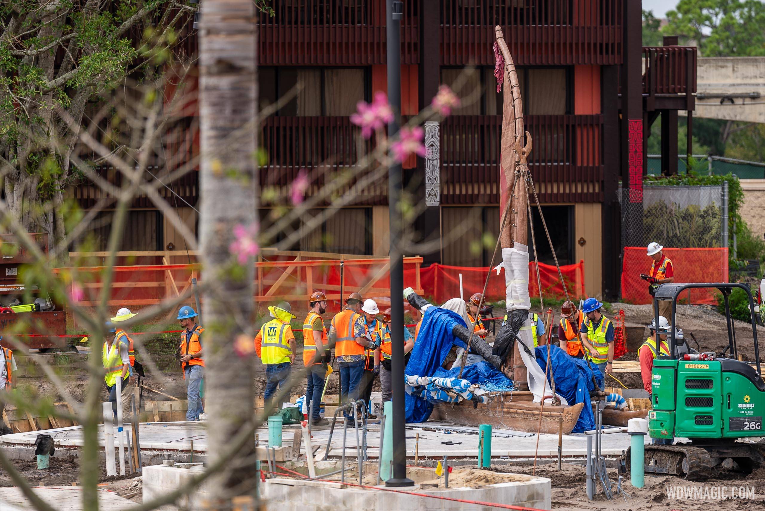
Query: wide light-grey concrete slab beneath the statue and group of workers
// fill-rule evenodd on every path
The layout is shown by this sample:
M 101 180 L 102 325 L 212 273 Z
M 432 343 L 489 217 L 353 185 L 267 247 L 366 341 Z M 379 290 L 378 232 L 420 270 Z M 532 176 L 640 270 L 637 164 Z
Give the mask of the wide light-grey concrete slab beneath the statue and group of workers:
M 415 456 L 415 435 L 419 434 L 418 455 L 425 457 L 476 457 L 478 454 L 478 435 L 465 432 L 444 433 L 441 431 L 418 430 L 419 427 L 441 426 L 460 428 L 444 422 L 428 421 L 422 425 L 411 424 L 406 430 L 406 455 Z M 291 445 L 295 429 L 299 426 L 285 426 L 282 434 L 284 445 Z M 126 426 L 129 429 L 129 426 Z M 47 433 L 54 437 L 57 448 L 77 448 L 83 445 L 83 432 L 81 426 L 70 428 L 50 429 L 46 431 L 30 431 L 28 433 L 15 433 L 0 437 L 2 446 L 34 444 L 34 439 L 39 433 Z M 318 459 L 324 457 L 327 441 L 330 440 L 329 428 L 314 429 L 311 443 L 321 444 Z M 267 428 L 257 431 L 259 438 L 268 438 Z M 359 432 L 360 438 L 363 431 Z M 454 444 L 444 444 L 451 441 Z M 650 438 L 646 435 L 645 442 Z M 461 443 L 460 443 L 461 442 Z M 99 430 L 99 444 L 103 446 L 103 428 Z M 379 425 L 370 425 L 367 431 L 367 455 L 376 458 L 379 451 Z M 166 451 L 168 453 L 189 453 L 207 451 L 207 430 L 203 421 L 198 422 L 149 422 L 141 425 L 141 448 L 154 451 Z M 605 456 L 620 456 L 630 446 L 630 435 L 616 433 L 603 435 L 603 454 Z M 331 440 L 329 457 L 340 457 L 343 447 L 343 428 L 335 428 Z M 537 435 L 522 434 L 509 438 L 494 437 L 491 444 L 492 457 L 526 458 L 534 457 L 537 449 Z M 585 435 L 564 435 L 562 442 L 564 457 L 584 457 L 587 452 L 587 438 Z M 301 452 L 305 452 L 305 445 L 301 446 Z M 539 435 L 539 457 L 558 457 L 558 435 Z M 356 431 L 348 428 L 346 438 L 346 456 L 356 457 Z

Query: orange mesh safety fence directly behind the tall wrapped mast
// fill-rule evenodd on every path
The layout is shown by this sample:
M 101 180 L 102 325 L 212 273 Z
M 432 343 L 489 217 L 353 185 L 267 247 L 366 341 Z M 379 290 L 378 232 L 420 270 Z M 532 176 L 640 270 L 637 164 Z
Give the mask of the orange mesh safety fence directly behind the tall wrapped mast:
M 488 267 L 445 266 L 434 263 L 421 270 L 420 280 L 425 295 L 432 298 L 436 303 L 442 304 L 449 298 L 460 296 L 460 274 L 462 274 L 464 298 L 468 298 L 474 293 L 483 292 L 488 271 Z M 584 261 L 574 265 L 561 266 L 561 272 L 566 282 L 568 295 L 571 298 L 584 298 L 586 296 L 584 293 Z M 542 280 L 542 295 L 545 298 L 565 298 L 555 266 L 539 263 L 539 278 Z M 407 282 L 406 275 L 404 275 L 404 285 L 407 285 Z M 532 297 L 539 296 L 539 286 L 536 282 L 533 262 L 529 262 L 529 294 Z M 500 272 L 500 275 L 496 275 L 496 271 L 492 271 L 486 295 L 488 303 L 506 299 L 504 270 Z

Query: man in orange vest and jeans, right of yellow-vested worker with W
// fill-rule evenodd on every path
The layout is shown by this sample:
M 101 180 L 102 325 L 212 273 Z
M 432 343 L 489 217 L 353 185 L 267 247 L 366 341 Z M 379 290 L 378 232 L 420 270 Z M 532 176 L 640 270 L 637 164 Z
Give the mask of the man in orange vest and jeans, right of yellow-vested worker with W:
M 327 327 L 324 327 L 322 314 L 327 312 L 327 295 L 316 291 L 309 298 L 308 316 L 303 321 L 303 364 L 308 378 L 305 386 L 305 403 L 311 425 L 327 424 L 327 419 L 321 417 L 321 394 L 324 392 L 324 379 L 327 376 L 327 366 L 330 353 L 327 350 Z M 313 401 L 313 408 L 311 408 Z

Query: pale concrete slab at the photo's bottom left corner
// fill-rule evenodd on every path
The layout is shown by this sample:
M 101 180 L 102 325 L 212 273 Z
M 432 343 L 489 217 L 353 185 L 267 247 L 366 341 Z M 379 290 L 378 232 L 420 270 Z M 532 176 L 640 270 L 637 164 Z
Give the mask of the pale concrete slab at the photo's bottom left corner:
M 83 489 L 81 487 L 41 487 L 34 488 L 35 495 L 53 506 L 57 511 L 80 511 L 83 509 Z M 99 509 L 124 509 L 138 506 L 131 500 L 123 499 L 114 492 L 99 490 Z M 21 488 L 0 488 L 0 509 L 2 511 L 36 511 L 29 503 Z

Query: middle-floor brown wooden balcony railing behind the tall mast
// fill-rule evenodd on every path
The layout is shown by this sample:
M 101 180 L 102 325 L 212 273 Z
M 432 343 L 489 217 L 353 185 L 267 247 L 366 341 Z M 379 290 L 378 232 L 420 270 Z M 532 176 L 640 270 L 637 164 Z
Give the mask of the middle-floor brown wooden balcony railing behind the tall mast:
M 539 200 L 597 202 L 603 116 L 526 116 L 529 157 Z M 441 202 L 498 203 L 500 116 L 453 116 L 441 129 Z

